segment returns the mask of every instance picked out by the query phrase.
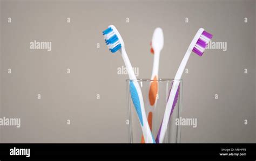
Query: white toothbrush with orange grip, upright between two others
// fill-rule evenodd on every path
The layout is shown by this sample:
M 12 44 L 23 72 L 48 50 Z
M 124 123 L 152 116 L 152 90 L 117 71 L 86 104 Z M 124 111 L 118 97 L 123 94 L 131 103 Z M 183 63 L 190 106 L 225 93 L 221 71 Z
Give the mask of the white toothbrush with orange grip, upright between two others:
M 150 52 L 154 54 L 153 70 L 151 75 L 150 90 L 149 90 L 149 102 L 151 106 L 156 107 L 157 104 L 157 94 L 158 94 L 158 68 L 159 68 L 159 57 L 160 51 L 164 47 L 164 34 L 160 27 L 154 30 L 153 37 L 150 43 Z M 152 81 L 153 80 L 153 81 Z M 152 109 L 149 111 L 147 116 L 147 121 L 150 124 L 150 129 L 152 130 Z M 142 142 L 144 143 L 144 138 L 142 136 Z

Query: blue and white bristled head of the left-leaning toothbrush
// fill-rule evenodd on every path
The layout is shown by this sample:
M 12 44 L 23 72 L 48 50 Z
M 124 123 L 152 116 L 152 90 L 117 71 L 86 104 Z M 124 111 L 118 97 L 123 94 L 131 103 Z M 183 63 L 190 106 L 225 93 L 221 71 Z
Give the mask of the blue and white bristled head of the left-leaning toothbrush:
M 102 33 L 105 39 L 105 43 L 112 53 L 115 53 L 124 47 L 124 41 L 114 25 L 110 25 Z

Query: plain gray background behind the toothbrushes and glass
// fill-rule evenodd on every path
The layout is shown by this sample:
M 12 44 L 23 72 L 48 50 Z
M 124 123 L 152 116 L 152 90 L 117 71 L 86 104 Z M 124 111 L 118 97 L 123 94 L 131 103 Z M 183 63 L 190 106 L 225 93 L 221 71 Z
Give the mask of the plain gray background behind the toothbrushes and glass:
M 124 62 L 101 34 L 110 24 L 138 78 L 151 76 L 156 27 L 165 36 L 160 78 L 174 77 L 199 27 L 212 41 L 226 41 L 226 52 L 207 50 L 188 61 L 181 116 L 197 118 L 198 127 L 182 127 L 181 143 L 255 143 L 255 1 L 1 1 L 0 114 L 22 123 L 0 127 L 1 143 L 128 141 L 128 76 L 117 74 Z M 30 50 L 33 40 L 52 41 L 52 51 Z

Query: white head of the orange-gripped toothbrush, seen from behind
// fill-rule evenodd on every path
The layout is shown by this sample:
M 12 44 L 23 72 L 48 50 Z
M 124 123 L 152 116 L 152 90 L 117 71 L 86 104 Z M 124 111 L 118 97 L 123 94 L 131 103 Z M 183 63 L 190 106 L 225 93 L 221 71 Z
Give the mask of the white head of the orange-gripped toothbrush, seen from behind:
M 163 30 L 160 27 L 157 27 L 154 30 L 152 41 L 151 41 L 151 52 L 154 53 L 154 51 L 160 52 L 164 47 L 164 33 Z

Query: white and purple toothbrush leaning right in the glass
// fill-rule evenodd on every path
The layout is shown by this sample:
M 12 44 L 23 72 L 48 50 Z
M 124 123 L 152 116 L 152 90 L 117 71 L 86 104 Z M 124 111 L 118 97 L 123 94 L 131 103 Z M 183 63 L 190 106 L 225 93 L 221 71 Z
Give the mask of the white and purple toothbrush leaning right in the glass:
M 206 32 L 203 28 L 200 28 L 196 36 L 194 36 L 193 40 L 191 41 L 191 44 L 188 47 L 187 52 L 183 60 L 181 61 L 178 71 L 175 75 L 174 82 L 172 83 L 171 92 L 167 99 L 164 118 L 157 134 L 157 138 L 156 138 L 157 143 L 163 143 L 165 132 L 167 130 L 167 124 L 170 120 L 170 116 L 178 100 L 179 82 L 177 82 L 176 80 L 181 79 L 181 75 L 184 72 L 188 58 L 190 58 L 190 54 L 194 52 L 201 57 L 211 39 L 212 39 L 212 34 Z

